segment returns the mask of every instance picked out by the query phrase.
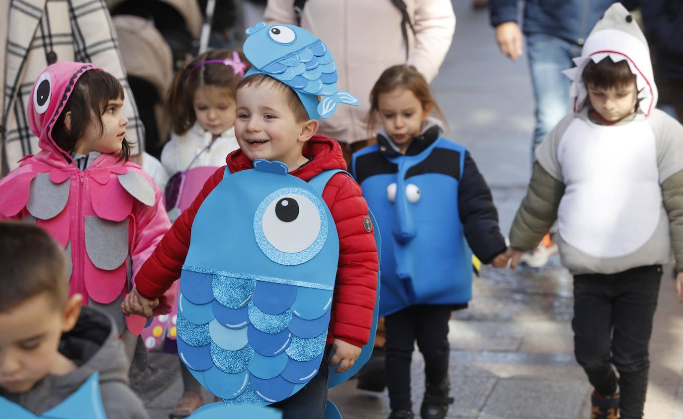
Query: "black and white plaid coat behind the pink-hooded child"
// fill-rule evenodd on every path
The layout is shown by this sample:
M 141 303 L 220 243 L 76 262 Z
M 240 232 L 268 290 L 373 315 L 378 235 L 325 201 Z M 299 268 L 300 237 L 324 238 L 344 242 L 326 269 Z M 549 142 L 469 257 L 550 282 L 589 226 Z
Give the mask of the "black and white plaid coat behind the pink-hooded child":
M 4 62 L 0 61 L 5 66 L 0 175 L 14 169 L 21 157 L 40 150 L 38 137 L 29 130 L 26 107 L 33 82 L 42 70 L 57 61 L 92 62 L 121 81 L 126 95 L 123 111 L 130 120 L 126 136 L 135 143 L 133 154 L 139 154 L 138 141 L 144 139 L 144 127 L 137 116 L 114 25 L 104 1 L 11 1 L 8 21 L 0 23 L 0 30 L 8 31 Z

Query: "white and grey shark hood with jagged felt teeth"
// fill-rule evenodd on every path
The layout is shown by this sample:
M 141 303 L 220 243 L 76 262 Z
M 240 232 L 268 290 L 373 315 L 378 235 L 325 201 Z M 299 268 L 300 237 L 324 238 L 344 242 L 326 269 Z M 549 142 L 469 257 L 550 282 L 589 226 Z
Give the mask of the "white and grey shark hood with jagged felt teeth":
M 636 21 L 621 3 L 614 3 L 604 12 L 595 25 L 581 51 L 581 57 L 574 58 L 576 67 L 563 73 L 572 80 L 570 98 L 574 112 L 579 111 L 588 94 L 583 83 L 583 70 L 589 60 L 598 63 L 605 57 L 613 62 L 626 60 L 631 72 L 636 75 L 638 89 L 638 110 L 650 115 L 657 105 L 657 86 L 654 84 L 650 49 L 645 35 Z

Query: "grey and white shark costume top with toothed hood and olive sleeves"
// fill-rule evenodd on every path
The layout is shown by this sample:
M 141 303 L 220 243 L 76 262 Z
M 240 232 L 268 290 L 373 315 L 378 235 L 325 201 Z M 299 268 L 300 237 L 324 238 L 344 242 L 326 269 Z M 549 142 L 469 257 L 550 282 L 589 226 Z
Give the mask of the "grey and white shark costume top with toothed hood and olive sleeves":
M 639 91 L 635 114 L 610 126 L 589 116 L 583 70 L 626 60 Z M 574 112 L 536 150 L 527 196 L 510 231 L 533 249 L 557 219 L 562 264 L 572 273 L 617 273 L 671 260 L 683 271 L 683 126 L 655 109 L 657 87 L 645 36 L 613 4 L 587 38 L 572 79 Z

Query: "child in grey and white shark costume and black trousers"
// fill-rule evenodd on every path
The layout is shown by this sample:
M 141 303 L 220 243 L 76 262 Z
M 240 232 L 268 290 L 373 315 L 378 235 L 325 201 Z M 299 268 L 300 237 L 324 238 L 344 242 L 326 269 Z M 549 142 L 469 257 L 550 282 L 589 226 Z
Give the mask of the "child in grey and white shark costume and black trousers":
M 655 109 L 645 36 L 619 3 L 574 62 L 565 71 L 574 112 L 536 150 L 508 255 L 514 269 L 557 220 L 560 258 L 574 274 L 574 352 L 595 388 L 591 417 L 620 409 L 642 418 L 672 245 L 679 296 L 683 286 L 683 126 Z

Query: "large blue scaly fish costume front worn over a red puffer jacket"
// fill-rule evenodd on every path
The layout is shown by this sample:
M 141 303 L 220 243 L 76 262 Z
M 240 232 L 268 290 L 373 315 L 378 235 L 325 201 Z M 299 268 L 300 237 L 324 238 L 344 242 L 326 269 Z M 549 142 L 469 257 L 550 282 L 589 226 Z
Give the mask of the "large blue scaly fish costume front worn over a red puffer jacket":
M 258 159 L 253 170 L 226 167 L 193 222 L 178 353 L 227 405 L 282 401 L 322 361 L 339 238 L 315 178 L 287 170 Z

